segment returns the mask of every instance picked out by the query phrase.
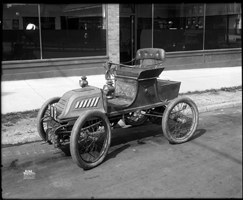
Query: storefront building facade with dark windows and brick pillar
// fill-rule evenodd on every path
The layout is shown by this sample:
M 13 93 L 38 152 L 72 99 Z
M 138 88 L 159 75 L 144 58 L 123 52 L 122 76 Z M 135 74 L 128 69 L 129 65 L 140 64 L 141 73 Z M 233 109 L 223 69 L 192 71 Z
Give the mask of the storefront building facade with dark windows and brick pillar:
M 2 80 L 104 73 L 163 48 L 165 70 L 241 65 L 240 3 L 2 4 Z

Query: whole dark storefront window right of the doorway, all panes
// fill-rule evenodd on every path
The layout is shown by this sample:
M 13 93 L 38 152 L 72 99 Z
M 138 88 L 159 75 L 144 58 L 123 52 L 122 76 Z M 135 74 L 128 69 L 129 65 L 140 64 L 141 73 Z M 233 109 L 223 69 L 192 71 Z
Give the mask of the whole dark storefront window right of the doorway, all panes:
M 153 47 L 167 52 L 241 47 L 241 4 L 154 4 Z

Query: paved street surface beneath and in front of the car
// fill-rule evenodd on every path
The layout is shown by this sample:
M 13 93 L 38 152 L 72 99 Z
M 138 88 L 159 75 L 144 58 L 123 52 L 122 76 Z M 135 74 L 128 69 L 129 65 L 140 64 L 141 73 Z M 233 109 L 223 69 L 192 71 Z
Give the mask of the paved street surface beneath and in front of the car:
M 113 130 L 105 161 L 88 171 L 48 144 L 3 148 L 2 196 L 242 198 L 242 107 L 201 113 L 199 122 L 179 145 L 150 123 Z

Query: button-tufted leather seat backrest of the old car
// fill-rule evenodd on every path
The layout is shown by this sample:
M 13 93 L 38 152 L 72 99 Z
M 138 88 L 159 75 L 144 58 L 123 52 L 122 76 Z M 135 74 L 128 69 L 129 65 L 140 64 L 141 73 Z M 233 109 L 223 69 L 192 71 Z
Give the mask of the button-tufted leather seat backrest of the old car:
M 136 65 L 139 68 L 158 68 L 165 60 L 164 49 L 159 48 L 144 48 L 139 49 L 136 53 Z M 159 63 L 159 65 L 158 65 Z

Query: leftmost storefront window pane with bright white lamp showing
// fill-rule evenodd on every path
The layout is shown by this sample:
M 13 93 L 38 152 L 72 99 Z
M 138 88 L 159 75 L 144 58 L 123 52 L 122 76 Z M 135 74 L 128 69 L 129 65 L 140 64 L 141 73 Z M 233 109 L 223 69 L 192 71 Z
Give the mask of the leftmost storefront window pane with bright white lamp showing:
M 39 59 L 38 26 L 37 4 L 3 4 L 2 60 Z

